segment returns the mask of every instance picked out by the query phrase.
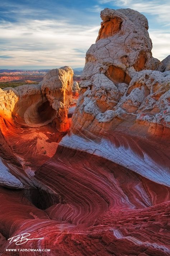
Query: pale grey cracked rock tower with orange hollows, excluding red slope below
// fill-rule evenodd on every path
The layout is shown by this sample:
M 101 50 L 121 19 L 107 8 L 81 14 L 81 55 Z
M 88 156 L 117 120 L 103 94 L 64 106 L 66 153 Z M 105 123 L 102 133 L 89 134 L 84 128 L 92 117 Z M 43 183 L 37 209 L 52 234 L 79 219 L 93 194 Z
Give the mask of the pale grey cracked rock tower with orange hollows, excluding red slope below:
M 86 53 L 73 133 L 90 131 L 97 122 L 112 129 L 125 119 L 168 127 L 170 73 L 152 57 L 147 19 L 131 9 L 104 9 L 101 18 L 99 36 Z

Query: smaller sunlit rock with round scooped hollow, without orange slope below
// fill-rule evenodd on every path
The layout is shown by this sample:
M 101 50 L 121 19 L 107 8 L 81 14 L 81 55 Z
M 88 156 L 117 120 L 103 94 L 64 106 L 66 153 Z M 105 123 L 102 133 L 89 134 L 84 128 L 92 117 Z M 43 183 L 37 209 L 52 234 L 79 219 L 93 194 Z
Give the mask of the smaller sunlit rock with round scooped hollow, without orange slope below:
M 1 90 L 0 111 L 21 125 L 40 127 L 54 123 L 58 131 L 69 129 L 67 113 L 71 103 L 73 70 L 52 69 L 39 85 Z

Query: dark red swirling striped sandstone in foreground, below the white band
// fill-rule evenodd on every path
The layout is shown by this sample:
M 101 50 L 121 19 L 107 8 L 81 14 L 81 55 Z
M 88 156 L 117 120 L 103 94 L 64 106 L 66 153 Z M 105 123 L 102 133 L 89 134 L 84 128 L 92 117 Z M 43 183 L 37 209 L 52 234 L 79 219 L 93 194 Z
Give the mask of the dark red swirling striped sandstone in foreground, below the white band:
M 44 237 L 28 241 L 27 247 L 51 248 L 52 256 L 169 255 L 168 187 L 104 158 L 61 146 L 36 171 L 33 183 L 56 195 L 58 202 L 42 211 L 24 199 L 22 191 L 8 192 L 1 210 L 4 237 L 19 233 Z M 25 248 L 25 244 L 7 241 L 3 251 L 7 248 Z

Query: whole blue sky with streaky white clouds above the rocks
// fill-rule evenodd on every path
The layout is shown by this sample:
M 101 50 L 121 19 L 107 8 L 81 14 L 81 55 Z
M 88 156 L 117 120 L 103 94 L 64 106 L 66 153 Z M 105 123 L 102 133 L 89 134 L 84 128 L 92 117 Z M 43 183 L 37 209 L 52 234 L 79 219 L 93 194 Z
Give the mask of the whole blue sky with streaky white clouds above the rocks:
M 144 14 L 153 57 L 170 54 L 169 0 L 5 0 L 0 1 L 0 68 L 84 67 L 104 8 Z

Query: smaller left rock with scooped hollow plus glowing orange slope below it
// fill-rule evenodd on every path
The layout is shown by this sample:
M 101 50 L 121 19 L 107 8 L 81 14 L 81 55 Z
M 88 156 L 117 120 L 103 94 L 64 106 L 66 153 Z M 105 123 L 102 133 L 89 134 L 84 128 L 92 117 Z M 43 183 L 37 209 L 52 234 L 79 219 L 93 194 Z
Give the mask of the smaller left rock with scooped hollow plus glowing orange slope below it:
M 38 85 L 0 89 L 0 185 L 22 188 L 18 176 L 29 180 L 30 167 L 36 170 L 55 154 L 69 130 L 72 86 L 73 70 L 65 66 Z

